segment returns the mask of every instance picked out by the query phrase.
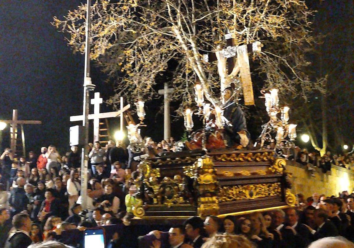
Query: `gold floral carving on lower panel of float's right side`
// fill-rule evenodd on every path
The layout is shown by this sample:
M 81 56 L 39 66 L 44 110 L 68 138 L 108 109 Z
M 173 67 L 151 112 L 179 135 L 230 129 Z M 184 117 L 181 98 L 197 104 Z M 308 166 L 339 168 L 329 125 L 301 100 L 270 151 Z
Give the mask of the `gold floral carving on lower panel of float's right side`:
M 281 195 L 281 184 L 250 184 L 219 188 L 219 202 L 231 202 Z

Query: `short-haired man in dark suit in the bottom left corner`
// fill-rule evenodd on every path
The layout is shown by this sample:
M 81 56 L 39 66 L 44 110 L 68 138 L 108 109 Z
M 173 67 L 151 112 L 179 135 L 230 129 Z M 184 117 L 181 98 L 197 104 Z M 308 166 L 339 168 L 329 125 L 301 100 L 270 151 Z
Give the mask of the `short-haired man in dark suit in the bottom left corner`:
M 29 237 L 32 221 L 26 213 L 19 213 L 13 216 L 12 225 L 16 232 L 12 233 L 5 244 L 5 248 L 27 248 L 32 243 Z

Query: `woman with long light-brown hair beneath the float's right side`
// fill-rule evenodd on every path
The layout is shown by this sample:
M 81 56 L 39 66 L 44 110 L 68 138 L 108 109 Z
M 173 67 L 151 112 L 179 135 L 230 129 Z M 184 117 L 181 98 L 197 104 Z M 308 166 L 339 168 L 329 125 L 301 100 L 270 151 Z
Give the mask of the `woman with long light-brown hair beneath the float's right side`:
M 251 220 L 251 241 L 255 242 L 258 247 L 273 247 L 272 233 L 267 231 L 263 215 L 261 213 L 253 213 L 250 215 Z

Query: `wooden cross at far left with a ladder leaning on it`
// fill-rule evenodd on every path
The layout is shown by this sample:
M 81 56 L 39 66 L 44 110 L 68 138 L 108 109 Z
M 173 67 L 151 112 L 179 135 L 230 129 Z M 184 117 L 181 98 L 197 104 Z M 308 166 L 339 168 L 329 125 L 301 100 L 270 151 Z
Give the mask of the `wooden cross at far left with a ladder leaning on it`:
M 40 120 L 18 120 L 17 109 L 12 110 L 12 120 L 1 120 L 1 122 L 10 123 L 10 137 L 11 137 L 11 150 L 13 153 L 16 153 L 17 145 L 17 124 L 21 126 L 22 134 L 22 147 L 23 147 L 23 156 L 26 154 L 26 147 L 24 142 L 24 124 L 42 124 Z

